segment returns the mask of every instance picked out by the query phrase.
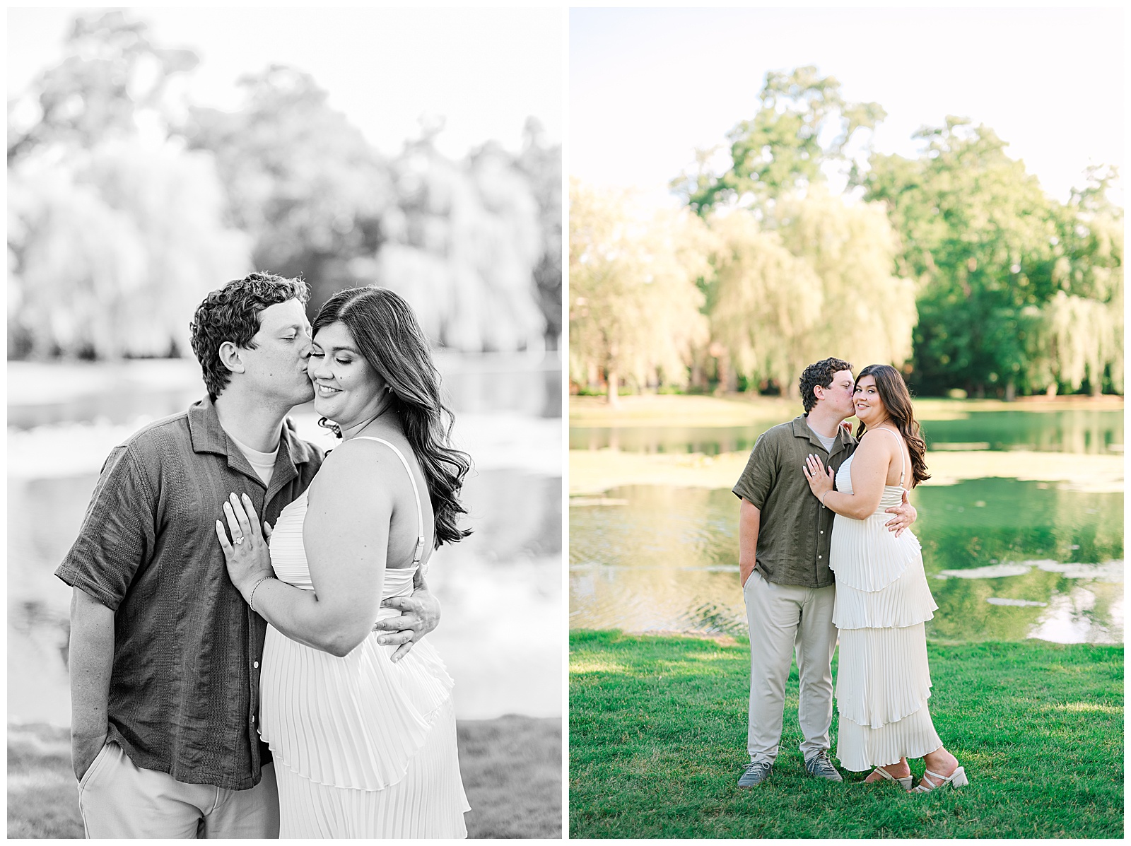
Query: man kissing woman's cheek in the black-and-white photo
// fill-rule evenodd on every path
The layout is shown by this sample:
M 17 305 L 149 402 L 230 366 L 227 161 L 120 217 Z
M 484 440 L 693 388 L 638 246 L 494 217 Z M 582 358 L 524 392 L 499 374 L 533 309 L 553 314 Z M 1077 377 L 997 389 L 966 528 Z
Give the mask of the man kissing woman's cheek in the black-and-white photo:
M 305 283 L 231 282 L 197 309 L 208 397 L 106 459 L 55 575 L 71 601 L 71 753 L 87 837 L 278 837 L 259 740 L 267 623 L 227 578 L 215 525 L 232 492 L 264 519 L 310 484 L 322 452 L 287 413 L 313 398 Z M 435 628 L 423 585 L 392 603 L 404 644 Z

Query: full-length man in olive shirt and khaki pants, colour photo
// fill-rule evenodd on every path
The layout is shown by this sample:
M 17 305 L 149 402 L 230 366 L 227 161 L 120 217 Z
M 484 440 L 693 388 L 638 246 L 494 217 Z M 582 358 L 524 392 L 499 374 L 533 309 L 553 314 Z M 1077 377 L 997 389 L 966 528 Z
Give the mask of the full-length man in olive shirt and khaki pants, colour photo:
M 837 644 L 836 587 L 829 570 L 834 513 L 813 497 L 802 466 L 814 454 L 836 472 L 856 449 L 855 439 L 840 425 L 854 413 L 854 382 L 852 364 L 839 359 L 805 368 L 801 374 L 805 413 L 759 437 L 733 489 L 741 498 L 739 572 L 750 624 L 750 763 L 739 778 L 740 787 L 765 782 L 777 758 L 794 653 L 805 771 L 841 780 L 829 760 Z M 897 515 L 888 523 L 893 532 L 916 517 L 906 497 L 888 511 Z

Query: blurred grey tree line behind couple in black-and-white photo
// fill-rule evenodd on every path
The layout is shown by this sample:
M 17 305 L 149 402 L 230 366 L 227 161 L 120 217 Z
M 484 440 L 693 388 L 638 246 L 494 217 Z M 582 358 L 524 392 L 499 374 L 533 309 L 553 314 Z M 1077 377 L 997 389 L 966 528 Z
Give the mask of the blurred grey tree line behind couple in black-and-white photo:
M 204 295 L 252 269 L 304 277 L 311 313 L 395 288 L 459 351 L 558 345 L 561 148 L 536 119 L 518 153 L 451 161 L 434 121 L 388 157 L 291 67 L 234 112 L 189 102 L 197 55 L 128 12 L 78 16 L 64 53 L 8 103 L 9 357 L 184 354 Z

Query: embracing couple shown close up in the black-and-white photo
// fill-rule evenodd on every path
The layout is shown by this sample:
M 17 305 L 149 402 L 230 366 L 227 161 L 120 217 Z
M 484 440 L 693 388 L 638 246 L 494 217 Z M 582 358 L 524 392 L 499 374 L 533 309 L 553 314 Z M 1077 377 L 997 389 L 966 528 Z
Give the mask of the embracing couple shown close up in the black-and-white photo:
M 407 303 L 348 288 L 311 327 L 308 295 L 251 274 L 205 299 L 208 396 L 114 448 L 57 570 L 87 837 L 466 836 L 422 638 L 470 465 Z M 311 399 L 325 456 L 287 418 Z

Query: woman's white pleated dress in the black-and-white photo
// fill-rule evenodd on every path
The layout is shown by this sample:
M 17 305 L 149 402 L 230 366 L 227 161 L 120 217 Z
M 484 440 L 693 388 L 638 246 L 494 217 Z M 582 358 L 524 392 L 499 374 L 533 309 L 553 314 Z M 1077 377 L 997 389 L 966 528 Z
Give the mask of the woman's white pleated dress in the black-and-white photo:
M 381 442 L 408 471 L 400 451 Z M 413 592 L 424 539 L 416 497 L 414 566 L 386 569 L 382 598 Z M 271 564 L 280 580 L 313 590 L 302 542 L 305 516 L 304 492 L 279 515 Z M 267 627 L 259 734 L 275 760 L 279 837 L 467 836 L 451 677 L 426 638 L 396 664 L 394 651 L 373 632 L 338 658 Z

